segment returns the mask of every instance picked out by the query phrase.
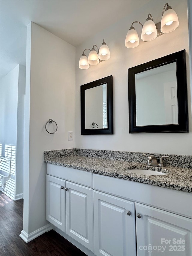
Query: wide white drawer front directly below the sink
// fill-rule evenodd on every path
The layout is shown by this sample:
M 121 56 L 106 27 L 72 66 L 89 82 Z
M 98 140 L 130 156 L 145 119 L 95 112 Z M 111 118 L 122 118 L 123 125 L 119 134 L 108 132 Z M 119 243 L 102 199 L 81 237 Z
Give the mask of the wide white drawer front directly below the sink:
M 192 218 L 192 193 L 98 174 L 93 189 Z

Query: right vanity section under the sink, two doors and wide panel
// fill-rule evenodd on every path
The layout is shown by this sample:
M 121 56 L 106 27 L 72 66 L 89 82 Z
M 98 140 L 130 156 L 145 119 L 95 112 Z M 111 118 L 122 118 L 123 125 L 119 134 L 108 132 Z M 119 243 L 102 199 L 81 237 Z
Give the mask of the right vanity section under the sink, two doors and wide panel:
M 97 256 L 192 255 L 191 193 L 97 174 L 93 188 Z

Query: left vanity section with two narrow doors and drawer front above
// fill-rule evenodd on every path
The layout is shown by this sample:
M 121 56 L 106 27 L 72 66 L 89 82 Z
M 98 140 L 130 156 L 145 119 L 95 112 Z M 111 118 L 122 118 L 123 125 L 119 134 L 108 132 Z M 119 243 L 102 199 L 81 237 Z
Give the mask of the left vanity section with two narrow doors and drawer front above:
M 93 251 L 92 173 L 47 164 L 46 182 L 47 220 Z

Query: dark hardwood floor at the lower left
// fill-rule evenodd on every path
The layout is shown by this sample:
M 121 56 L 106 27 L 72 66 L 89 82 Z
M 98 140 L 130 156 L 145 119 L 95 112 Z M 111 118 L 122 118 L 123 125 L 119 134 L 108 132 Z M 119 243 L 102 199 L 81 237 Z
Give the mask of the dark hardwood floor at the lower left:
M 86 256 L 56 233 L 44 233 L 29 243 L 19 234 L 23 227 L 23 200 L 13 201 L 0 192 L 0 255 L 8 256 Z

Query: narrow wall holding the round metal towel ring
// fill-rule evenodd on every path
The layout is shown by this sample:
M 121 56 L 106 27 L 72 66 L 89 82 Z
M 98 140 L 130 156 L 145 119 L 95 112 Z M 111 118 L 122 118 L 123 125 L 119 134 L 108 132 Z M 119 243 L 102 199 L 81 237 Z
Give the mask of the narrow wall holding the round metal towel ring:
M 27 26 L 23 234 L 46 226 L 44 150 L 74 148 L 68 131 L 75 120 L 75 47 L 42 29 Z M 58 130 L 45 130 L 48 119 Z M 52 125 L 48 125 L 52 131 Z M 25 238 L 26 238 L 25 237 Z

